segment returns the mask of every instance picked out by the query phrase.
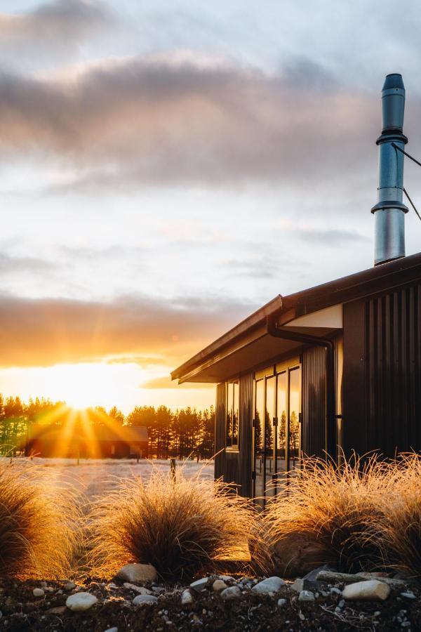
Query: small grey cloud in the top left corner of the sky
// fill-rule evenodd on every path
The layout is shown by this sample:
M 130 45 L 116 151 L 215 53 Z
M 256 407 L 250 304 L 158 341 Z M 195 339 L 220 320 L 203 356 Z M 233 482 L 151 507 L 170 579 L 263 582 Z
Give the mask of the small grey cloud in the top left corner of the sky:
M 0 48 L 67 48 L 109 27 L 112 13 L 102 2 L 55 0 L 28 13 L 0 13 Z

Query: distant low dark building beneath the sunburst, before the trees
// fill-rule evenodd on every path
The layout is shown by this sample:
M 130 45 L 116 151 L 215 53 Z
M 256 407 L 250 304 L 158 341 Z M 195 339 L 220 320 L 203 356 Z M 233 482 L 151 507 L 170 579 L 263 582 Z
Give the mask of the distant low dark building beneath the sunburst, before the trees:
M 142 459 L 147 453 L 147 428 L 117 423 L 34 423 L 25 443 L 26 456 L 48 458 Z

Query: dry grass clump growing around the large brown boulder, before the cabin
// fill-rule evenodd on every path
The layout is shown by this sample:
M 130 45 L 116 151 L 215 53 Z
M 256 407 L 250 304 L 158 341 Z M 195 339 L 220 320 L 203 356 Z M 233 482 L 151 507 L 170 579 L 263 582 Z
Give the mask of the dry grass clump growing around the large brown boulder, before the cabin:
M 276 570 L 294 577 L 323 564 L 343 572 L 374 565 L 377 542 L 366 534 L 390 486 L 385 467 L 375 456 L 345 461 L 340 468 L 305 459 L 265 515 Z

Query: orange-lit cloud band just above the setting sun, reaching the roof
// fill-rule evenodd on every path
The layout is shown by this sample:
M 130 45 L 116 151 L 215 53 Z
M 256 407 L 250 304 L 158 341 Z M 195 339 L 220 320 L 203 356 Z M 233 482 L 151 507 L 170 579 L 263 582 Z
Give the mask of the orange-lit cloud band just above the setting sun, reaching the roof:
M 220 298 L 159 301 L 121 296 L 109 302 L 88 302 L 5 295 L 0 299 L 0 367 L 136 355 L 161 355 L 166 361 L 170 356 L 178 362 L 254 307 Z

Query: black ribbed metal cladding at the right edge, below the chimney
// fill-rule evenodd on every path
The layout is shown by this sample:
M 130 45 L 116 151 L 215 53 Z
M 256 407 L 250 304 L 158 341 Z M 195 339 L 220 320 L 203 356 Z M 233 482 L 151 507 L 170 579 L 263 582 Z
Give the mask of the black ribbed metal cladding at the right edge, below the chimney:
M 421 286 L 365 303 L 367 449 L 421 449 Z

